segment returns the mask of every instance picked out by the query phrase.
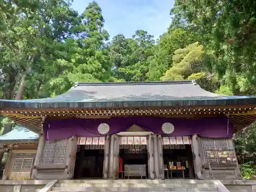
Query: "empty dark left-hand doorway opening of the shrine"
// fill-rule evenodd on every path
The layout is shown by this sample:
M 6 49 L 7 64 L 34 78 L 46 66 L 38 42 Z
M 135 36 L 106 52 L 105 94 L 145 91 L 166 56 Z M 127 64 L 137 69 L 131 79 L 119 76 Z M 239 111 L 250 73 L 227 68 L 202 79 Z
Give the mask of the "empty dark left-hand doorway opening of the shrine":
M 76 153 L 74 179 L 103 177 L 103 149 L 85 149 L 85 145 L 79 145 Z

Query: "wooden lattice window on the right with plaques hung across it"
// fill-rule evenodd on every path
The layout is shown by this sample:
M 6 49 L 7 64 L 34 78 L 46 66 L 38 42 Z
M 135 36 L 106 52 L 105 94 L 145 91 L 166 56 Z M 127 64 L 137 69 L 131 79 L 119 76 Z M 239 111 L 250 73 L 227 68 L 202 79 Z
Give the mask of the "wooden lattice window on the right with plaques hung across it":
M 221 162 L 223 158 L 221 155 L 223 153 L 229 153 L 230 150 L 227 145 L 226 139 L 209 139 L 209 138 L 202 138 L 202 147 L 203 147 L 203 154 L 204 154 L 204 161 L 208 163 L 210 161 Z M 220 155 L 219 155 L 220 154 Z

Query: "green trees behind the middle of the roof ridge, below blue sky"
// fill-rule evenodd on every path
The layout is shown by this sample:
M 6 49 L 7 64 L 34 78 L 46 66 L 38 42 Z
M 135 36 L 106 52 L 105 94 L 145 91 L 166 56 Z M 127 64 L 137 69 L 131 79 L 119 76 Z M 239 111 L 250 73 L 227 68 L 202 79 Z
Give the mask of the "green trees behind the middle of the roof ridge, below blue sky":
M 122 34 L 113 37 L 110 52 L 115 78 L 125 81 L 145 81 L 150 58 L 154 54 L 155 40 L 146 31 L 137 30 L 133 38 Z

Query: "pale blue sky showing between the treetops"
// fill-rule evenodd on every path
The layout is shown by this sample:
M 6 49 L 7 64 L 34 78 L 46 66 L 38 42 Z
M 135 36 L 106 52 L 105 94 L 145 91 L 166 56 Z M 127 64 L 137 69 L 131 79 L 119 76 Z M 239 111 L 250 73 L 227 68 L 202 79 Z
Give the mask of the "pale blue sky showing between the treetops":
M 72 7 L 79 13 L 92 0 L 74 0 Z M 123 34 L 132 37 L 135 31 L 142 29 L 155 39 L 165 32 L 170 24 L 169 11 L 174 0 L 97 0 L 105 19 L 104 29 L 110 37 Z

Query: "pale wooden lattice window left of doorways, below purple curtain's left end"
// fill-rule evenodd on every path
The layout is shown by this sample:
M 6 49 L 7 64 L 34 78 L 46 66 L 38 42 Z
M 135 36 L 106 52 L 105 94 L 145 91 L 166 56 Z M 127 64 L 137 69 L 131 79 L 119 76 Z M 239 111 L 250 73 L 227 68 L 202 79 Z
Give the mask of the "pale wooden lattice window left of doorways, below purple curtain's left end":
M 67 139 L 46 141 L 41 164 L 63 164 L 66 162 Z

